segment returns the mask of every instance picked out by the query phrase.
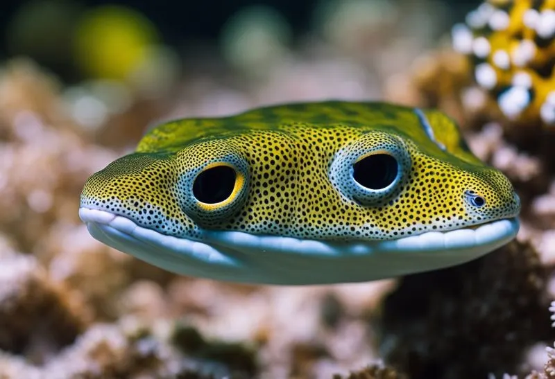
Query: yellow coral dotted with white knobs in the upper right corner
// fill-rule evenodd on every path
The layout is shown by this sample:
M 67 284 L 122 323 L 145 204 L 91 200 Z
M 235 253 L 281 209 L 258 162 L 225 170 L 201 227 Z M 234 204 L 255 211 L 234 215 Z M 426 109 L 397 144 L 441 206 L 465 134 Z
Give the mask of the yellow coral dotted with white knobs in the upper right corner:
M 555 127 L 555 0 L 485 1 L 452 36 L 509 121 Z

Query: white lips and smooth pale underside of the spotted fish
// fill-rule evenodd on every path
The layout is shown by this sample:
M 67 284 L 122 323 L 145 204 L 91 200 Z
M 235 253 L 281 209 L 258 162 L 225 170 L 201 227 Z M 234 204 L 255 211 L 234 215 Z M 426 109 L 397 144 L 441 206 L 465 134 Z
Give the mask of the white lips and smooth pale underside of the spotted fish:
M 98 209 L 81 207 L 79 216 L 97 240 L 164 270 L 273 285 L 355 283 L 438 270 L 502 247 L 519 229 L 517 218 L 506 218 L 395 240 L 332 242 L 209 230 L 189 240 Z

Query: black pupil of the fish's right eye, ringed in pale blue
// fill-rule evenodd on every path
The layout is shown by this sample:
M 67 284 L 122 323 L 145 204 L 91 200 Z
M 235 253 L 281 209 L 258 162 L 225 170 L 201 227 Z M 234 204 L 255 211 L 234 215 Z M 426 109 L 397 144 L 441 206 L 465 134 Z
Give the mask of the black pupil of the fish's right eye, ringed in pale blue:
M 358 184 L 373 190 L 386 188 L 397 177 L 397 160 L 388 154 L 369 155 L 352 166 Z

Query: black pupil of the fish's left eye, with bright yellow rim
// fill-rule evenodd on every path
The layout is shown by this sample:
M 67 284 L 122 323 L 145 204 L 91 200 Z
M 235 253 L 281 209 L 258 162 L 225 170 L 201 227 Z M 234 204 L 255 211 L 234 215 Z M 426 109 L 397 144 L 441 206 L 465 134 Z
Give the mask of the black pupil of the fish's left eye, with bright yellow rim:
M 235 186 L 235 170 L 216 166 L 198 174 L 193 183 L 193 195 L 205 204 L 216 204 L 230 197 Z

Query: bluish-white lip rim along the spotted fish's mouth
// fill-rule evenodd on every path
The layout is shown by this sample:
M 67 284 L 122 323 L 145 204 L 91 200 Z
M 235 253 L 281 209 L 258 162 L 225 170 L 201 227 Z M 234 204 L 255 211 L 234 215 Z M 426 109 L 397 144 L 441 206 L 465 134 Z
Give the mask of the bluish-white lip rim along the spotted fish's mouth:
M 81 207 L 79 217 L 87 226 L 90 223 L 101 224 L 136 238 L 153 247 L 164 247 L 172 252 L 186 252 L 194 258 L 215 265 L 237 266 L 236 257 L 226 256 L 212 245 L 202 241 L 188 240 L 167 236 L 151 229 L 139 227 L 132 220 L 114 215 L 107 211 Z M 106 229 L 106 228 L 105 228 Z M 423 252 L 474 252 L 480 247 L 499 247 L 500 243 L 509 242 L 519 229 L 518 218 L 509 218 L 475 226 L 475 229 L 457 229 L 453 231 L 429 231 L 395 240 L 361 240 L 357 243 L 341 243 L 329 240 L 302 240 L 282 236 L 256 236 L 241 231 L 203 231 L 203 237 L 214 245 L 227 248 L 228 251 L 263 251 L 268 253 L 298 254 L 305 257 L 314 256 L 361 256 L 372 253 L 415 253 Z M 491 249 L 489 249 L 490 251 Z M 486 252 L 474 252 L 476 256 Z

